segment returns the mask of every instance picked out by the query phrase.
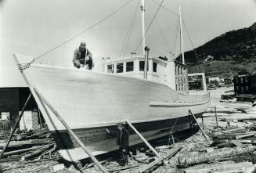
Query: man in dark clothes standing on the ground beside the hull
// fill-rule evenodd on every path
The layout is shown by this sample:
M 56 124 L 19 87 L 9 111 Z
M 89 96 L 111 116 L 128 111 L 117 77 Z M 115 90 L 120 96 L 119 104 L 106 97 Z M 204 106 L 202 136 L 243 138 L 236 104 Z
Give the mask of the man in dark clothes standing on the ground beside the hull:
M 119 146 L 119 153 L 120 153 L 120 160 L 119 164 L 124 166 L 128 164 L 128 153 L 129 153 L 129 132 L 126 128 L 124 128 L 124 124 L 118 123 L 117 124 L 117 132 L 110 132 L 106 128 L 106 132 L 112 136 L 116 136 L 116 142 Z

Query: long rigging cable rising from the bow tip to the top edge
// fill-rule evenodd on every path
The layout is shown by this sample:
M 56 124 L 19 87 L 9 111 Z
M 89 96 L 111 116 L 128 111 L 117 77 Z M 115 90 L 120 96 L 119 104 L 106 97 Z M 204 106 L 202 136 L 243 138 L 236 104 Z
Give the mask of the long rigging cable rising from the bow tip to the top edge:
M 114 13 L 117 13 L 118 11 L 120 11 L 121 9 L 123 9 L 126 5 L 128 5 L 128 4 L 129 4 L 130 2 L 132 2 L 132 1 L 133 1 L 133 0 L 130 0 L 130 1 L 126 2 L 124 5 L 121 5 L 121 7 L 119 7 L 118 9 L 116 9 L 113 13 L 110 13 L 109 15 L 107 15 L 106 17 L 104 17 L 102 20 L 99 20 L 98 22 L 94 23 L 91 27 L 88 27 L 88 28 L 85 29 L 84 31 L 81 31 L 80 33 L 74 35 L 74 37 L 69 38 L 67 41 L 64 41 L 62 44 L 56 45 L 54 48 L 50 49 L 49 51 L 47 51 L 47 52 L 41 54 L 40 56 L 37 56 L 36 58 L 33 59 L 33 61 L 36 60 L 36 59 L 41 58 L 42 56 L 45 56 L 46 54 L 48 54 L 49 52 L 52 52 L 53 50 L 58 49 L 60 46 L 65 45 L 67 42 L 73 40 L 74 38 L 77 38 L 79 35 L 84 34 L 86 31 L 92 29 L 92 27 L 96 27 L 99 23 L 102 23 L 104 20 L 106 20 L 106 19 L 109 18 L 110 16 L 113 16 Z

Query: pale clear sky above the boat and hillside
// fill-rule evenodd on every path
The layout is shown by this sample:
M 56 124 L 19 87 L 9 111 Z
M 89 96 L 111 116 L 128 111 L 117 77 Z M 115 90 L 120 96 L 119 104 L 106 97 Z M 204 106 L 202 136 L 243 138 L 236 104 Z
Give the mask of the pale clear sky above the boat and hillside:
M 26 86 L 14 62 L 13 53 L 36 58 L 92 26 L 94 27 L 42 56 L 35 63 L 72 67 L 74 49 L 78 48 L 81 41 L 85 41 L 92 52 L 96 63 L 94 70 L 101 69 L 102 57 L 123 56 L 122 47 L 126 47 L 126 56 L 131 52 L 142 55 L 142 45 L 139 45 L 142 39 L 140 0 L 0 2 L 0 87 Z M 128 5 L 106 18 L 127 2 Z M 162 0 L 145 0 L 146 28 L 149 27 L 157 12 L 157 3 L 160 2 Z M 256 22 L 256 0 L 165 0 L 164 8 L 160 8 L 146 34 L 150 56 L 170 56 L 170 51 L 178 55 L 179 43 L 174 43 L 178 26 L 178 15 L 175 13 L 178 13 L 179 5 L 184 21 L 182 27 L 185 51 L 204 45 L 227 31 L 250 27 Z M 129 43 L 125 45 L 125 36 L 134 17 L 132 34 Z M 189 38 L 193 41 L 193 46 Z

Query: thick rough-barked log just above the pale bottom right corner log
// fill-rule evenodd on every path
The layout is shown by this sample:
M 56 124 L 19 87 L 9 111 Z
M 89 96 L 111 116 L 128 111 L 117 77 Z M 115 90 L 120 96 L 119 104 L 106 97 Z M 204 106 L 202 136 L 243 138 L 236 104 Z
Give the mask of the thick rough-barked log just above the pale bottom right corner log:
M 187 167 L 193 164 L 207 163 L 209 161 L 214 161 L 219 158 L 234 157 L 234 156 L 241 155 L 243 153 L 247 153 L 254 150 L 255 150 L 255 146 L 250 146 L 247 148 L 243 148 L 243 147 L 235 147 L 231 149 L 223 148 L 223 149 L 215 150 L 211 153 L 200 153 L 194 157 L 188 157 L 188 156 L 179 157 L 178 163 L 181 167 Z

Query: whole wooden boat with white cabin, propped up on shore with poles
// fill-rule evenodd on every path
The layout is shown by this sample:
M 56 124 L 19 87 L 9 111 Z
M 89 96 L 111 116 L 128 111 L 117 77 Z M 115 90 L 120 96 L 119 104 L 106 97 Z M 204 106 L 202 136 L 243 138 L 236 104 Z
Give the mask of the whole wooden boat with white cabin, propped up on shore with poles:
M 70 161 L 88 155 L 35 90 L 93 155 L 117 150 L 115 139 L 106 134 L 106 128 L 114 130 L 119 122 L 130 121 L 144 138 L 157 139 L 189 128 L 189 110 L 197 117 L 210 103 L 206 87 L 202 93 L 189 94 L 187 66 L 174 59 L 145 60 L 145 56 L 103 59 L 103 72 L 96 72 L 36 64 L 29 56 L 14 57 L 59 153 Z M 149 64 L 148 70 L 145 62 Z M 135 132 L 131 129 L 129 132 L 131 146 L 142 142 Z

